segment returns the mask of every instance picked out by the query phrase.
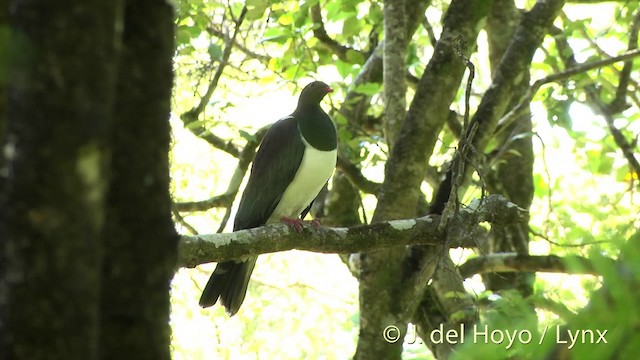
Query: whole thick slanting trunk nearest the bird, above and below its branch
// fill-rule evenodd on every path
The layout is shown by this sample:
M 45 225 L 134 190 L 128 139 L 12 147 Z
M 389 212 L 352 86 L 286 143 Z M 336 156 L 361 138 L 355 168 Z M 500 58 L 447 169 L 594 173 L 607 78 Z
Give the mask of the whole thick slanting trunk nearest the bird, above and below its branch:
M 479 23 L 488 13 L 489 3 L 453 1 L 447 10 L 442 36 L 420 79 L 387 161 L 374 222 L 415 216 L 428 158 L 465 69 L 460 56 L 454 53 L 454 39 L 462 37 L 467 43 L 475 43 Z M 472 49 L 465 49 L 467 57 Z M 401 332 L 400 339 L 404 337 L 411 316 L 407 308 L 418 305 L 415 300 L 421 296 L 430 276 L 425 271 L 426 276 L 405 282 L 404 256 L 404 247 L 361 255 L 361 329 L 356 359 L 400 358 L 402 341 L 386 342 L 383 330 L 395 326 Z

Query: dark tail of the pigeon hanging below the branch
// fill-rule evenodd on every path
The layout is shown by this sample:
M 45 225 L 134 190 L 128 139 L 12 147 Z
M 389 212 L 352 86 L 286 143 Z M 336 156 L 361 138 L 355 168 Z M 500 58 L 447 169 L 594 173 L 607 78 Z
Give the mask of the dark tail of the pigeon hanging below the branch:
M 229 316 L 235 315 L 244 301 L 256 259 L 257 257 L 252 257 L 245 261 L 218 263 L 207 282 L 207 286 L 202 291 L 200 306 L 213 306 L 220 298 L 227 314 Z

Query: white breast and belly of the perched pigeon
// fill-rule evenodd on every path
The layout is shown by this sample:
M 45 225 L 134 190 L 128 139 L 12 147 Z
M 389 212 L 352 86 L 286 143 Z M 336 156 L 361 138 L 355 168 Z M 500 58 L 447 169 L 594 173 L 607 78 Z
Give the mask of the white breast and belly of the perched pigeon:
M 297 218 L 318 195 L 336 167 L 336 150 L 320 151 L 306 144 L 302 163 L 296 176 L 282 195 L 282 199 L 269 217 L 268 223 L 280 221 L 283 216 Z

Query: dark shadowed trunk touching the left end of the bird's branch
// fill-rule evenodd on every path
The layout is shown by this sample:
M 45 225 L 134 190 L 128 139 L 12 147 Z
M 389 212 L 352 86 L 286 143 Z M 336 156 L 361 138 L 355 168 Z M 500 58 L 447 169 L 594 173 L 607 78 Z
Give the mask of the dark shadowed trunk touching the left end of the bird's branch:
M 169 198 L 173 14 L 127 1 L 118 73 L 102 273 L 101 357 L 170 359 L 177 235 Z

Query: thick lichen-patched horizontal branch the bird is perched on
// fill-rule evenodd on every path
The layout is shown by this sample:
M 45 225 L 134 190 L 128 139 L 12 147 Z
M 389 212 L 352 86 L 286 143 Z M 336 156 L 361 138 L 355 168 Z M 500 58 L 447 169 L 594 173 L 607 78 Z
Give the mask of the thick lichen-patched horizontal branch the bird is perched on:
M 239 259 L 285 250 L 307 250 L 319 253 L 355 253 L 379 250 L 398 245 L 474 246 L 478 223 L 491 222 L 504 226 L 526 219 L 526 211 L 503 196 L 491 195 L 475 200 L 461 210 L 445 233 L 438 231 L 440 217 L 391 220 L 352 228 L 315 229 L 305 226 L 298 233 L 284 224 L 225 234 L 182 236 L 179 245 L 179 266 Z

